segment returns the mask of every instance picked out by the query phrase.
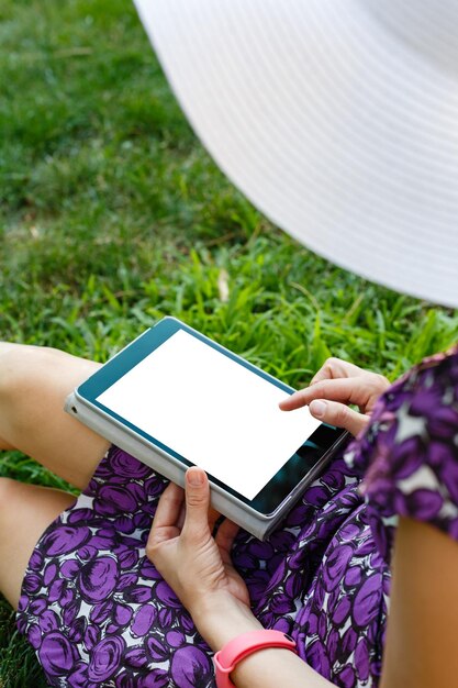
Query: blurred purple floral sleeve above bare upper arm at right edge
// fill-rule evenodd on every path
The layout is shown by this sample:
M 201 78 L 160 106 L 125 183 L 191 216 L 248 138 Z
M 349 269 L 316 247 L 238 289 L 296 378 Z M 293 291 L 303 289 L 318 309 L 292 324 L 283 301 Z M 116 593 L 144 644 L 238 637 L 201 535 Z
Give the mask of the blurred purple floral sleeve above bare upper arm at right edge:
M 368 519 L 387 561 L 400 515 L 458 540 L 458 347 L 386 391 L 346 460 L 366 474 Z

